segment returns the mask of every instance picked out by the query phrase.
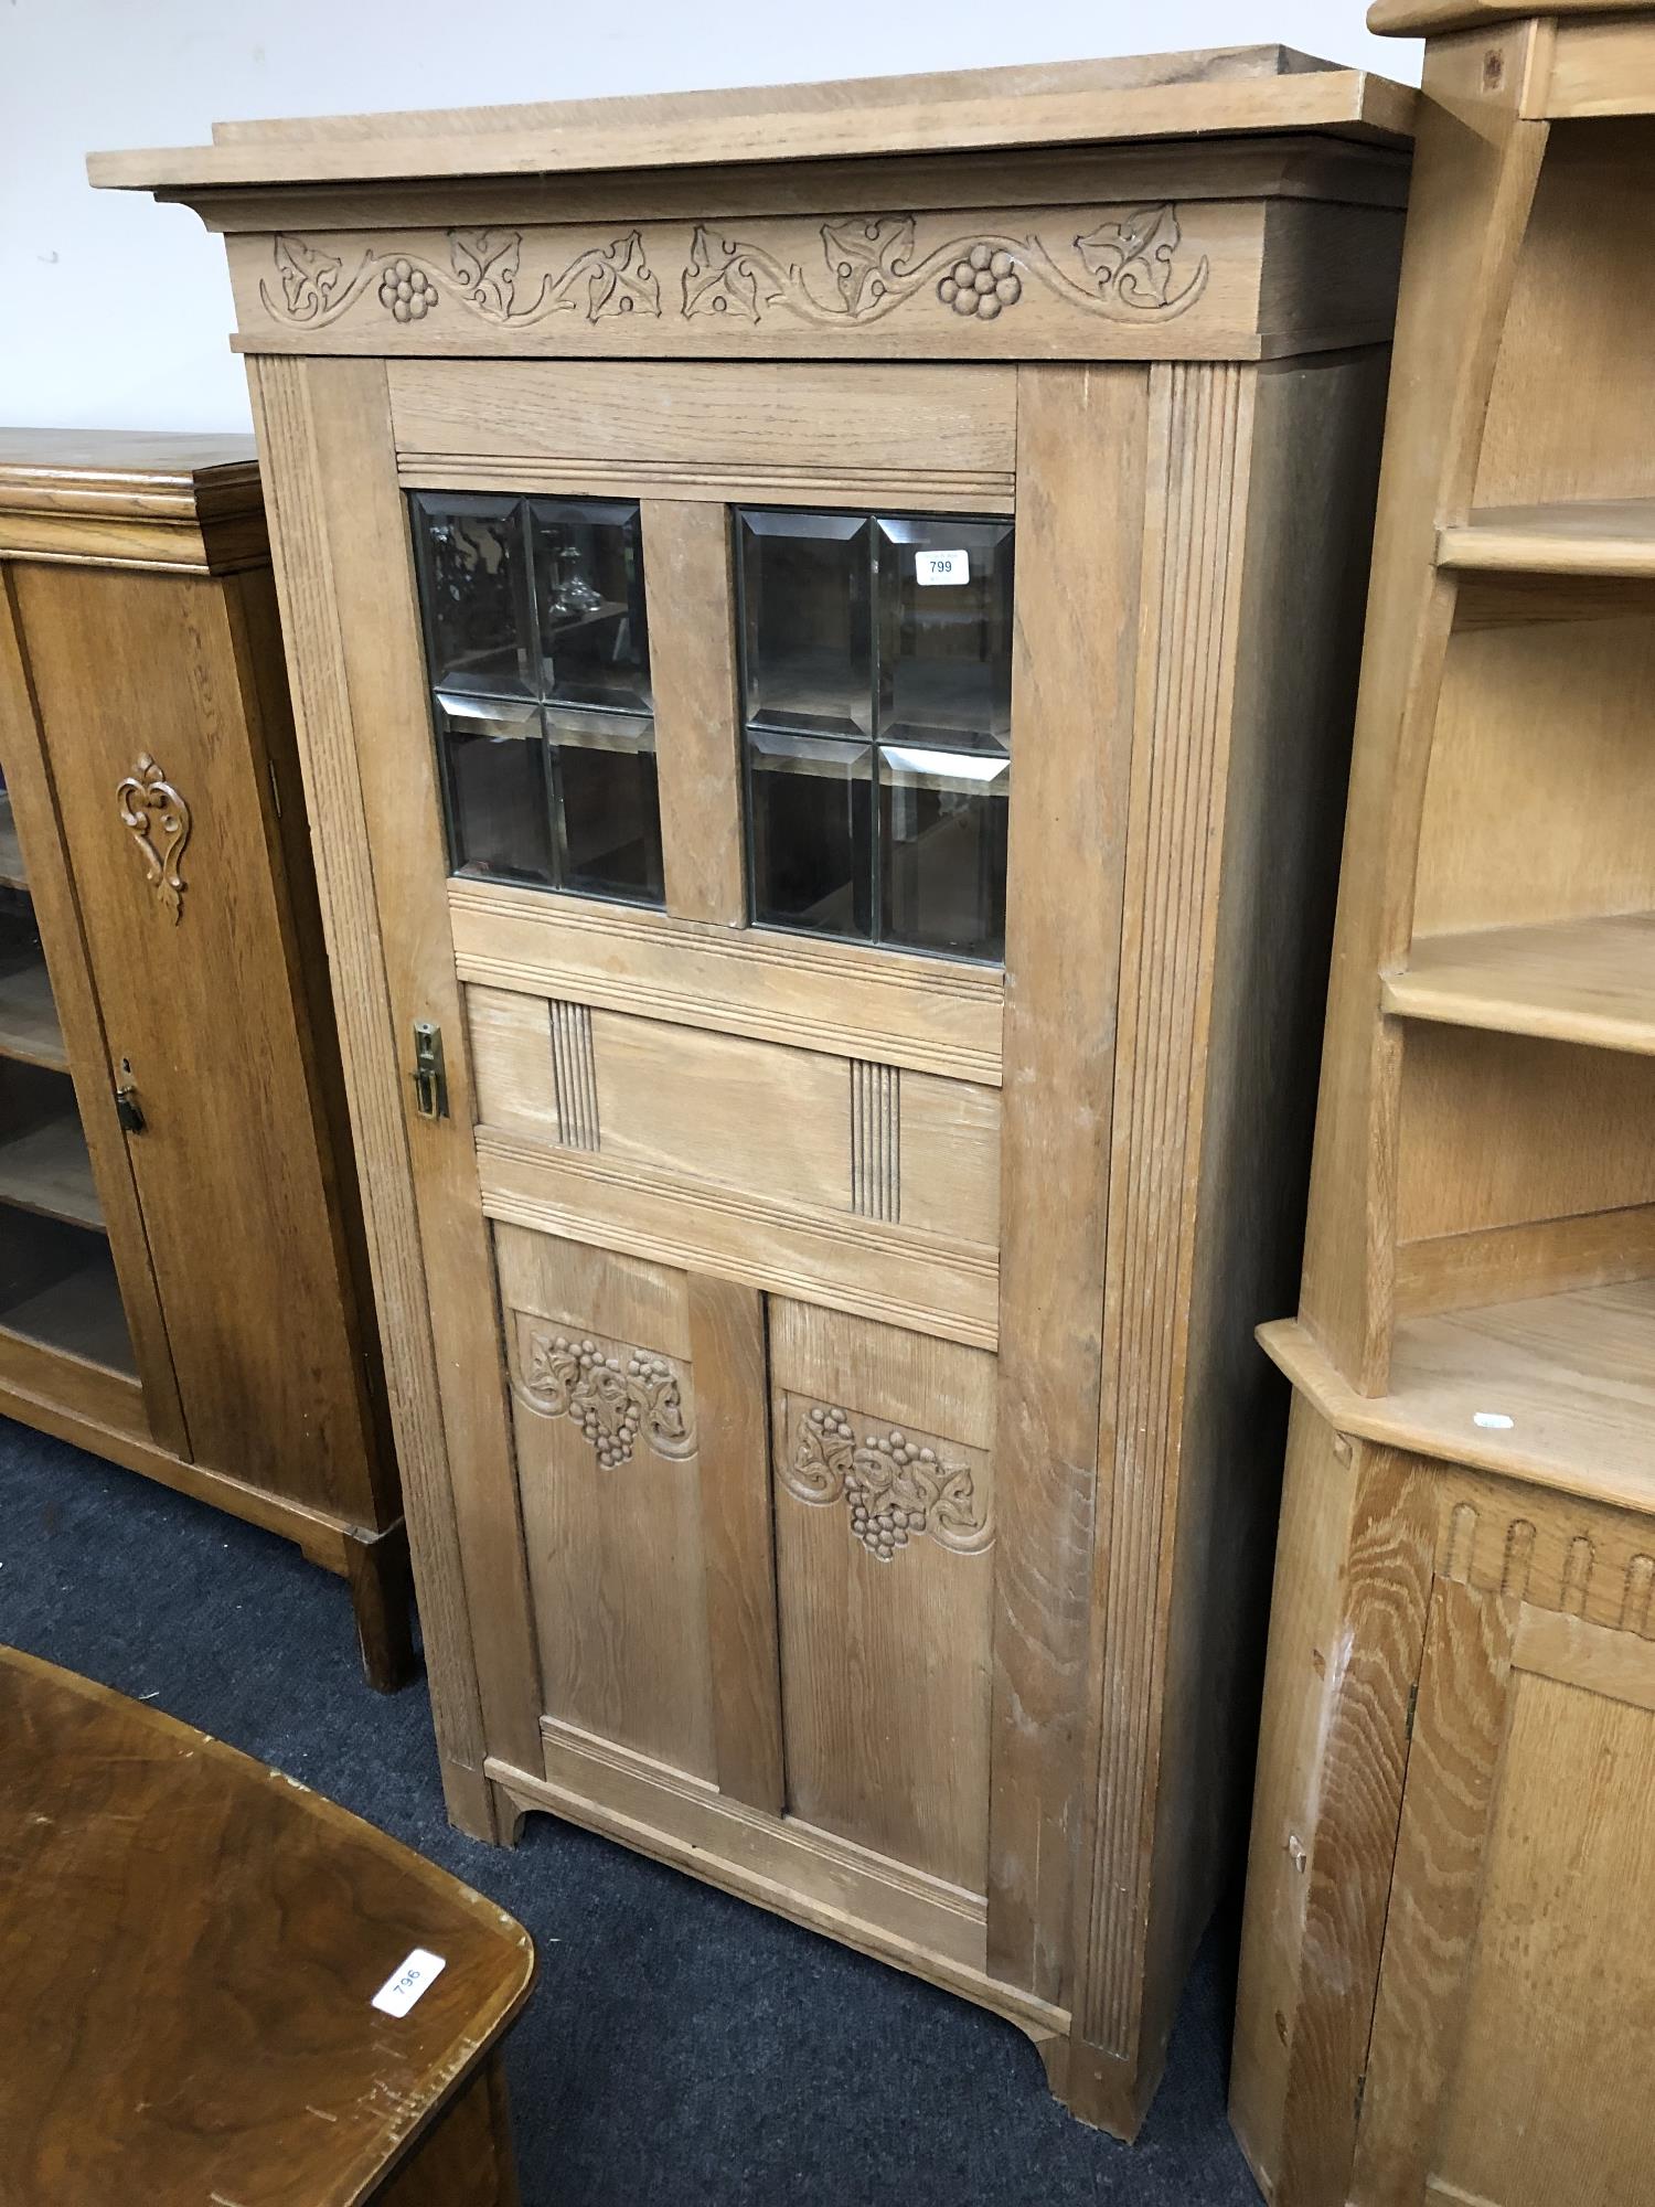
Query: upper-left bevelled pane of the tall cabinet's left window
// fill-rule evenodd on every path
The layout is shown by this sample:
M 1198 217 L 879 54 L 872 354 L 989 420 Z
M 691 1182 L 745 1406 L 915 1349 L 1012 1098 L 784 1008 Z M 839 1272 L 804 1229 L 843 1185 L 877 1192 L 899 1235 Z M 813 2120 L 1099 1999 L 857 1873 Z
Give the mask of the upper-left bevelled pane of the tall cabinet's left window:
M 527 697 L 523 503 L 419 490 L 413 510 L 433 686 Z

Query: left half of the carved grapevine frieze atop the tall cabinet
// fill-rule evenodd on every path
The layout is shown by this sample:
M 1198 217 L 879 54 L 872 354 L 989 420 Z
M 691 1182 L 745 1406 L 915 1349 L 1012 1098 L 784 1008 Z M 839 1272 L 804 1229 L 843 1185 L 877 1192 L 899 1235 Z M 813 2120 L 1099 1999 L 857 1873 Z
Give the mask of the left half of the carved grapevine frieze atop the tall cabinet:
M 280 305 L 269 285 L 258 287 L 276 320 L 324 329 L 338 322 L 369 289 L 377 287 L 384 311 L 395 322 L 421 322 L 444 296 L 455 298 L 485 322 L 523 327 L 547 313 L 578 313 L 587 322 L 607 313 L 660 316 L 660 282 L 649 267 L 642 232 L 587 245 L 563 269 L 541 278 L 532 298 L 516 296 L 523 267 L 521 230 L 448 230 L 448 267 L 417 254 L 382 254 L 373 247 L 346 274 L 344 260 L 307 238 L 282 234 L 274 241 Z

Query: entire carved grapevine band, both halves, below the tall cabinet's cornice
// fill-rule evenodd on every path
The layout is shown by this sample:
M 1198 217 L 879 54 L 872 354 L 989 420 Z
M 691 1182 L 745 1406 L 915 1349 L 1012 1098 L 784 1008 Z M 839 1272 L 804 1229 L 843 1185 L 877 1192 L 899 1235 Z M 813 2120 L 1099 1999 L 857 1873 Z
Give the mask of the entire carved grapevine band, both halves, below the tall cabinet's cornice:
M 920 247 L 918 216 L 878 214 L 821 223 L 823 265 L 812 276 L 768 245 L 695 223 L 682 260 L 682 320 L 764 322 L 783 316 L 816 327 L 880 322 L 914 298 L 991 322 L 1037 282 L 1083 313 L 1114 322 L 1163 322 L 1185 313 L 1207 289 L 1207 256 L 1183 256 L 1174 205 L 1112 212 L 1090 230 L 1048 247 L 1037 232 L 978 230 Z M 355 265 L 309 238 L 274 238 L 278 289 L 260 282 L 265 309 L 280 322 L 324 329 L 364 294 L 395 322 L 421 322 L 446 298 L 485 322 L 521 329 L 552 313 L 587 322 L 638 313 L 662 318 L 662 285 L 640 230 L 587 245 L 538 287 L 519 294 L 521 230 L 448 230 L 448 263 L 437 254 L 384 254 L 364 247 Z

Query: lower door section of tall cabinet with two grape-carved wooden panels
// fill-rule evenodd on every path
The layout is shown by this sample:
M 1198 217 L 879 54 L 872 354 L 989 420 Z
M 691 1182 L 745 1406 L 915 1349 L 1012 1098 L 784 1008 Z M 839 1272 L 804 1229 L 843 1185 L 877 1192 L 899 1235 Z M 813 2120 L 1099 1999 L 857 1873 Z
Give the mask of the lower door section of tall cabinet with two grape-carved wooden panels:
M 554 1805 L 978 1980 L 995 1360 L 757 1293 L 744 1357 L 744 1289 L 494 1254 Z

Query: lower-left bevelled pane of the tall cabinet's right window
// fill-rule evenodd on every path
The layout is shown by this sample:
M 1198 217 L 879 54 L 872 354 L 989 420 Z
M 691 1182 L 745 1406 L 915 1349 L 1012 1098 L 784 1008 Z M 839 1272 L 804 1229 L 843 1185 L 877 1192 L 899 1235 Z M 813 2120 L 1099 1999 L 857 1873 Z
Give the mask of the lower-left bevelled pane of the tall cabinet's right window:
M 872 799 L 867 744 L 748 731 L 755 920 L 874 931 Z

